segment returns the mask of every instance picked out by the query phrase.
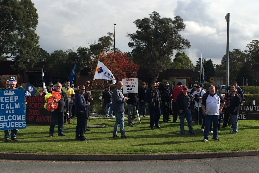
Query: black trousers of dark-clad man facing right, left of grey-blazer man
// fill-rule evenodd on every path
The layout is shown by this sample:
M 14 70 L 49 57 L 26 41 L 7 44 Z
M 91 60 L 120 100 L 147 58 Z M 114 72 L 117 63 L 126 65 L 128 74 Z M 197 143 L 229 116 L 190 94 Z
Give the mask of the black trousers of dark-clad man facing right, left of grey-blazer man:
M 76 113 L 77 115 L 77 125 L 75 128 L 75 138 L 84 139 L 84 128 L 87 113 Z

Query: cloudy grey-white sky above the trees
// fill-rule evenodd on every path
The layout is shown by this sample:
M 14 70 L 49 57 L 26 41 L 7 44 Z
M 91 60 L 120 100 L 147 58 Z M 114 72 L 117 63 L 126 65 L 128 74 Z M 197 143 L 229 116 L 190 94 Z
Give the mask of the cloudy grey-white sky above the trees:
M 107 32 L 114 32 L 115 46 L 131 51 L 126 34 L 136 32 L 134 21 L 157 11 L 161 17 L 180 16 L 186 29 L 181 32 L 191 48 L 184 52 L 196 65 L 202 57 L 220 64 L 226 54 L 227 21 L 230 13 L 230 44 L 246 49 L 259 39 L 258 0 L 32 0 L 38 13 L 39 45 L 48 53 L 55 50 L 77 50 L 97 42 Z M 174 58 L 174 57 L 173 57 Z

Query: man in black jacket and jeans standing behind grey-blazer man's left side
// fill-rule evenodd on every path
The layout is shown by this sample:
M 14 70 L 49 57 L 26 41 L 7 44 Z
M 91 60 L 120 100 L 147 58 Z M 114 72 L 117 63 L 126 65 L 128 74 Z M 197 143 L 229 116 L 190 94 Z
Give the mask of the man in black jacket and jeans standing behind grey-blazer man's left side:
M 111 101 L 112 101 L 111 87 L 105 86 L 105 90 L 102 93 L 102 102 L 103 102 L 102 110 L 98 115 L 100 115 L 100 114 L 102 115 L 105 107 L 107 106 L 106 112 L 105 112 L 106 117 L 108 117 L 109 114 L 110 114 L 111 117 L 115 117 L 113 115 L 113 112 L 111 111 Z

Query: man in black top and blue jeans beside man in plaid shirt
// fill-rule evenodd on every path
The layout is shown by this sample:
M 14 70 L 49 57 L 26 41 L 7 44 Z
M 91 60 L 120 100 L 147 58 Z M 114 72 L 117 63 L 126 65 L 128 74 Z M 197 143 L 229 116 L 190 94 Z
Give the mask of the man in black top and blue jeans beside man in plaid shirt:
M 239 114 L 240 105 L 240 97 L 237 93 L 237 89 L 232 88 L 232 98 L 230 101 L 230 115 L 232 119 L 233 130 L 229 132 L 230 134 L 237 134 L 237 116 Z

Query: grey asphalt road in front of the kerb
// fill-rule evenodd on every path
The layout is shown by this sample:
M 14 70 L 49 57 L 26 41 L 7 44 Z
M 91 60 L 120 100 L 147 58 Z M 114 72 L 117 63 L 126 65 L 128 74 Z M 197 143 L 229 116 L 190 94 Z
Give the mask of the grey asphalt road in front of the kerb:
M 259 156 L 158 161 L 0 160 L 0 173 L 258 173 Z

